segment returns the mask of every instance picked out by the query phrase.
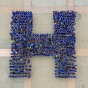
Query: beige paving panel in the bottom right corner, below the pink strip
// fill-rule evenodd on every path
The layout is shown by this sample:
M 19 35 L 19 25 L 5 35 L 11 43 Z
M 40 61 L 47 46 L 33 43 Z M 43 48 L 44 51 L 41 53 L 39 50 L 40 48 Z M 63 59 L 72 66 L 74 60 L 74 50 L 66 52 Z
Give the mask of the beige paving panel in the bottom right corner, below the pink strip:
M 76 88 L 88 87 L 88 57 L 77 57 Z

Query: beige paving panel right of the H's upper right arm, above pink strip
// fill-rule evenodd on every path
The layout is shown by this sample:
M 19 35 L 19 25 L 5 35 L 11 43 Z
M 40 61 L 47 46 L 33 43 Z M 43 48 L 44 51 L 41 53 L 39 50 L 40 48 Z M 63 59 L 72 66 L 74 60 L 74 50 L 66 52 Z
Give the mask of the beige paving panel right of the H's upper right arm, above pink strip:
M 76 48 L 88 49 L 88 15 L 79 15 L 76 20 Z

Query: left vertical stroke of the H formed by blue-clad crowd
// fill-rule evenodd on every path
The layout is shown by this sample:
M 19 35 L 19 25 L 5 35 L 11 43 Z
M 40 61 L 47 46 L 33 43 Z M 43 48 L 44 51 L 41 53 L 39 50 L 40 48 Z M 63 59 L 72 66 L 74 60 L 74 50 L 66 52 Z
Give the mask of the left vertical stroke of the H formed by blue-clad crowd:
M 12 12 L 11 22 L 11 60 L 10 77 L 22 78 L 31 76 L 30 57 L 27 58 L 28 37 L 33 29 L 32 12 Z M 30 42 L 30 41 L 29 41 Z

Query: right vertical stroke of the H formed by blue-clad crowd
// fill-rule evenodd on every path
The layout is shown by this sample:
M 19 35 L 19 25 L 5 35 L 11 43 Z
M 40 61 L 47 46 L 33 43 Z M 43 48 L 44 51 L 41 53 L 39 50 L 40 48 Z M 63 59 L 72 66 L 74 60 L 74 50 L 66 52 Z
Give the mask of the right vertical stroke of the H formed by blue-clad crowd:
M 55 46 L 55 77 L 76 78 L 75 57 L 75 19 L 74 11 L 53 12 Z M 58 52 L 59 51 L 59 52 Z

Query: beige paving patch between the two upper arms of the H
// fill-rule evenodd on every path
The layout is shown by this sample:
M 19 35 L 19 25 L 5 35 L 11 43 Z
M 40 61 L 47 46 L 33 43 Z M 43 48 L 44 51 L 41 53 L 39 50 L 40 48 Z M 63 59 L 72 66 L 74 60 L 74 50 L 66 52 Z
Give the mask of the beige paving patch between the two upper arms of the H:
M 53 12 L 52 12 L 53 14 Z M 53 33 L 53 19 L 52 14 L 34 14 L 33 15 L 33 24 L 34 29 L 33 33 Z

